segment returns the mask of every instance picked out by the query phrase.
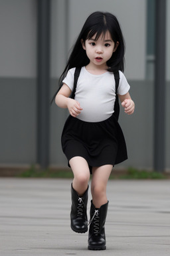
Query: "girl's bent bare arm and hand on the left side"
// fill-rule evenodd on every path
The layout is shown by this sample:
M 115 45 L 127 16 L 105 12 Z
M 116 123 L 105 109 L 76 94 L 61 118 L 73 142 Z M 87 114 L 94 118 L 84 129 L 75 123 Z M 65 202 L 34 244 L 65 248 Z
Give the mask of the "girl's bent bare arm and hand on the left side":
M 62 107 L 63 109 L 68 108 L 70 115 L 72 115 L 72 117 L 76 117 L 80 114 L 82 108 L 78 101 L 69 98 L 71 93 L 72 91 L 70 88 L 64 83 L 55 97 L 55 103 L 58 107 Z

